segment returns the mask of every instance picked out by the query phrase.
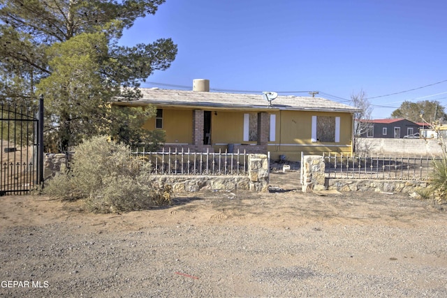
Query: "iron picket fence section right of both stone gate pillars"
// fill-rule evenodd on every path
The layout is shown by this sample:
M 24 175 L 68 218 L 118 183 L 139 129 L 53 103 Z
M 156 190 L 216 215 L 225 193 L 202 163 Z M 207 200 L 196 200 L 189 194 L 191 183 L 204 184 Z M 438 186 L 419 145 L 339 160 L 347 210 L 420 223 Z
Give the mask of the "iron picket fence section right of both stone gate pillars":
M 323 154 L 325 174 L 338 179 L 427 180 L 438 156 L 350 156 Z

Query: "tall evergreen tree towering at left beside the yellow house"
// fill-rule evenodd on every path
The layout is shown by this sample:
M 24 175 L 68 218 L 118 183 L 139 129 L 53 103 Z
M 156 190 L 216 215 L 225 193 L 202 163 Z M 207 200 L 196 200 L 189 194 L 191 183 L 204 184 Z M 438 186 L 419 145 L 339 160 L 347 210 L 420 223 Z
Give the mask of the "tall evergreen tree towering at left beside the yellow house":
M 170 38 L 132 47 L 117 41 L 124 29 L 154 15 L 163 2 L 0 1 L 0 99 L 34 103 L 43 94 L 45 143 L 52 151 L 66 151 L 92 135 L 129 131 L 119 126 L 129 123 L 129 117 L 152 117 L 153 110 L 117 110 L 110 100 L 138 99 L 140 83 L 154 70 L 168 68 L 177 46 Z M 132 134 L 118 138 L 161 135 Z

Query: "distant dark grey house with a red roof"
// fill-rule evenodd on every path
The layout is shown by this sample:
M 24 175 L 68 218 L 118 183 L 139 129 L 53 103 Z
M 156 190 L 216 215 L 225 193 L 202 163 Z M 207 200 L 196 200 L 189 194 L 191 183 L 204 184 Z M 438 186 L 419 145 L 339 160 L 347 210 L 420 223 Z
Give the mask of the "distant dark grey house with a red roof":
M 374 119 L 360 120 L 369 125 L 369 129 L 360 137 L 403 138 L 419 133 L 420 125 L 406 119 Z

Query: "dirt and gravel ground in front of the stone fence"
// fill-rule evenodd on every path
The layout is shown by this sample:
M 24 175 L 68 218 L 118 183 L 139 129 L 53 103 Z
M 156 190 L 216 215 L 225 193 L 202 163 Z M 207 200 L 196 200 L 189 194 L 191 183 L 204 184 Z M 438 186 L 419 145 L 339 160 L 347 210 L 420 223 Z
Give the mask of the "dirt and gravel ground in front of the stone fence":
M 447 297 L 446 206 L 299 187 L 277 172 L 125 214 L 1 197 L 0 296 Z

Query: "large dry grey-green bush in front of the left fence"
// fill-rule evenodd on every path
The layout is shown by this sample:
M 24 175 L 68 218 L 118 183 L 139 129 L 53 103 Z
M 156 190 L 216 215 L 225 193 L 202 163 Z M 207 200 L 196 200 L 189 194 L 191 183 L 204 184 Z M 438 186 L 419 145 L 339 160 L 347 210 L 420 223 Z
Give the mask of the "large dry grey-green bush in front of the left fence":
M 116 212 L 169 204 L 172 189 L 149 182 L 149 164 L 131 156 L 127 145 L 100 136 L 75 147 L 69 170 L 48 181 L 44 193 L 84 199 L 89 211 Z

